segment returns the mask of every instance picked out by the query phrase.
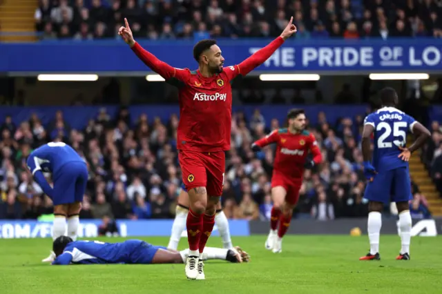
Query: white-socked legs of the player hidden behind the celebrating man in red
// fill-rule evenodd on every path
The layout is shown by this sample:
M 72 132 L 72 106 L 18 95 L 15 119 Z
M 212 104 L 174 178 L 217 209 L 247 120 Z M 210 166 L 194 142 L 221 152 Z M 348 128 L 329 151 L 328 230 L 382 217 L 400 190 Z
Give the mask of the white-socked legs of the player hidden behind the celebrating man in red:
M 181 186 L 181 192 L 177 200 L 177 208 L 175 219 L 173 219 L 171 239 L 169 240 L 169 249 L 177 249 L 180 243 L 181 234 L 186 228 L 187 214 L 189 213 L 189 194 L 187 193 L 186 186 Z M 218 232 L 222 239 L 222 246 L 227 249 L 233 248 L 232 240 L 229 231 L 229 221 L 226 215 L 222 211 L 221 202 L 218 202 L 216 206 L 215 225 L 218 227 Z

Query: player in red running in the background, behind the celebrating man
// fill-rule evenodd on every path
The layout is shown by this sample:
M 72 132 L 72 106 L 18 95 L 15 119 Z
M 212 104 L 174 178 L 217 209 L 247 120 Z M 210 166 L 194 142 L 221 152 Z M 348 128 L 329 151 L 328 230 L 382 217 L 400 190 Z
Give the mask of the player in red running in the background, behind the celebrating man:
M 304 110 L 290 110 L 287 119 L 289 128 L 273 130 L 252 144 L 254 151 L 268 144 L 277 144 L 271 177 L 270 233 L 265 242 L 265 248 L 273 253 L 282 251 L 282 237 L 289 229 L 291 214 L 298 202 L 304 169 L 313 168 L 323 160 L 314 135 L 305 130 Z M 313 160 L 307 160 L 309 152 L 313 154 Z

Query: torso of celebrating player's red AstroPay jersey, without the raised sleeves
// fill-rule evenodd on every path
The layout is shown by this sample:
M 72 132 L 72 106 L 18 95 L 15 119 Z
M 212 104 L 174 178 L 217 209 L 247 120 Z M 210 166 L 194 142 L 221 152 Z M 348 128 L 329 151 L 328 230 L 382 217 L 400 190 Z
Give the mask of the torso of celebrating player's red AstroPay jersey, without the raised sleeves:
M 179 150 L 230 150 L 231 80 L 239 73 L 238 66 L 224 68 L 220 74 L 213 77 L 203 77 L 199 70 L 176 69 L 175 77 L 182 82 L 179 90 Z

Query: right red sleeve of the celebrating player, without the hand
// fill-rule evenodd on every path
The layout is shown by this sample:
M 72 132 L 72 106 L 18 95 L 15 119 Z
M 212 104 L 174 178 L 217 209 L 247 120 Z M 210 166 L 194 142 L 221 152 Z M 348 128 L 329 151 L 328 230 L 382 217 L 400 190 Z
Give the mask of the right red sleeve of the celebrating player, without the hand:
M 271 57 L 276 49 L 280 48 L 282 43 L 284 43 L 284 39 L 282 39 L 282 37 L 278 37 L 271 41 L 269 45 L 253 53 L 251 57 L 245 59 L 240 64 L 225 68 L 224 71 L 227 73 L 229 80 L 234 79 L 238 75 L 245 76 L 258 66 L 260 66 L 267 59 L 269 59 L 269 57 Z

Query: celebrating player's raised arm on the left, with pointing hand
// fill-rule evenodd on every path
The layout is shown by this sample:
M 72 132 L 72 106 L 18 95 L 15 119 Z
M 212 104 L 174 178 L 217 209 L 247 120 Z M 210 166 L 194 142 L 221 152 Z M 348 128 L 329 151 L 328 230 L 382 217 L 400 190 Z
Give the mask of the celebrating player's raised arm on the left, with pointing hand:
M 144 50 L 144 48 L 142 48 L 142 46 L 140 46 L 140 44 L 133 39 L 132 30 L 127 19 L 124 19 L 124 25 L 125 26 L 119 28 L 118 35 L 122 37 L 128 46 L 131 47 L 135 55 L 137 55 L 137 57 L 140 58 L 144 64 L 146 64 L 146 66 L 151 68 L 151 70 L 166 80 L 176 78 L 180 81 L 184 81 L 186 77 L 186 70 L 173 68 L 164 61 L 157 59 L 157 57 L 155 57 L 155 55 L 153 55 L 151 52 Z

